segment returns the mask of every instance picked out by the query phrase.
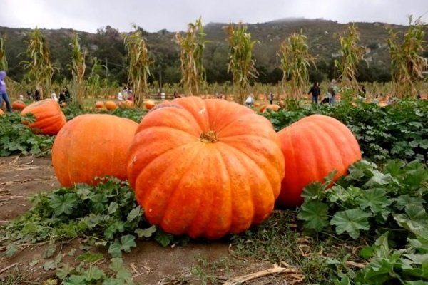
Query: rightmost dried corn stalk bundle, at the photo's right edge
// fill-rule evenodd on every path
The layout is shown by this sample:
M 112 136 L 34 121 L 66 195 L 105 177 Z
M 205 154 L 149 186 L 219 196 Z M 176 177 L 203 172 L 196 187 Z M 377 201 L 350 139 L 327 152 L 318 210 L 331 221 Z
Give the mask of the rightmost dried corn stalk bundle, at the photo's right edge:
M 427 58 L 421 56 L 425 51 L 424 38 L 427 24 L 419 17 L 412 21 L 409 16 L 409 28 L 399 43 L 399 33 L 389 29 L 387 40 L 391 55 L 392 82 L 394 93 L 400 98 L 409 98 L 417 94 L 417 83 L 424 81 L 424 71 L 428 68 Z

